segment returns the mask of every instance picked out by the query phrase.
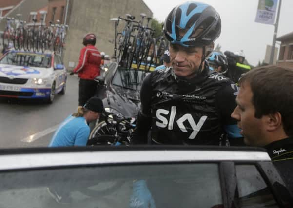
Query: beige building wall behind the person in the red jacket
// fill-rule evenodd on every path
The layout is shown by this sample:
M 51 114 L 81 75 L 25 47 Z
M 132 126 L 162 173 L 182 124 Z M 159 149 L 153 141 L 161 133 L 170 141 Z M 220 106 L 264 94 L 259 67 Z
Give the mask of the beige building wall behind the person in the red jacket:
M 153 17 L 153 12 L 143 0 L 69 0 L 66 23 L 69 25 L 64 51 L 64 64 L 69 70 L 77 65 L 82 38 L 86 33 L 97 35 L 96 47 L 108 55 L 114 54 L 114 23 L 111 18 L 131 14 Z M 123 23 L 121 22 L 122 26 Z

